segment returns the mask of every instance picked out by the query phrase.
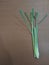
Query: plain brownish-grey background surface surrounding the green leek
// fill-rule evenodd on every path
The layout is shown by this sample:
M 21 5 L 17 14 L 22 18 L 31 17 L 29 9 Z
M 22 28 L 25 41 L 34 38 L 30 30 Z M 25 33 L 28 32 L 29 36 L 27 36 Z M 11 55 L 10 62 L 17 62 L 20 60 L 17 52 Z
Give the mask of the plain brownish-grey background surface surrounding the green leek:
M 39 11 L 40 58 L 33 58 L 31 35 L 19 14 Z M 49 0 L 0 0 L 0 65 L 49 65 Z

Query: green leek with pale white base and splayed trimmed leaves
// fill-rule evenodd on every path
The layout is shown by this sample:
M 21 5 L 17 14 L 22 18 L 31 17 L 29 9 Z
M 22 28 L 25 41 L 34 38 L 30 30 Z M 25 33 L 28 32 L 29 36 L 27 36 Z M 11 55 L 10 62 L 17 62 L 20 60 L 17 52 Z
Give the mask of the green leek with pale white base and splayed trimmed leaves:
M 28 30 L 32 35 L 32 48 L 34 52 L 34 57 L 38 59 L 39 58 L 38 26 L 47 17 L 47 14 L 42 18 L 42 20 L 39 23 L 37 23 L 37 19 L 39 15 L 38 12 L 34 11 L 34 8 L 32 8 L 30 12 L 30 16 L 28 16 L 28 14 L 24 12 L 22 9 L 20 10 L 20 14 L 24 20 L 24 23 L 26 24 Z

